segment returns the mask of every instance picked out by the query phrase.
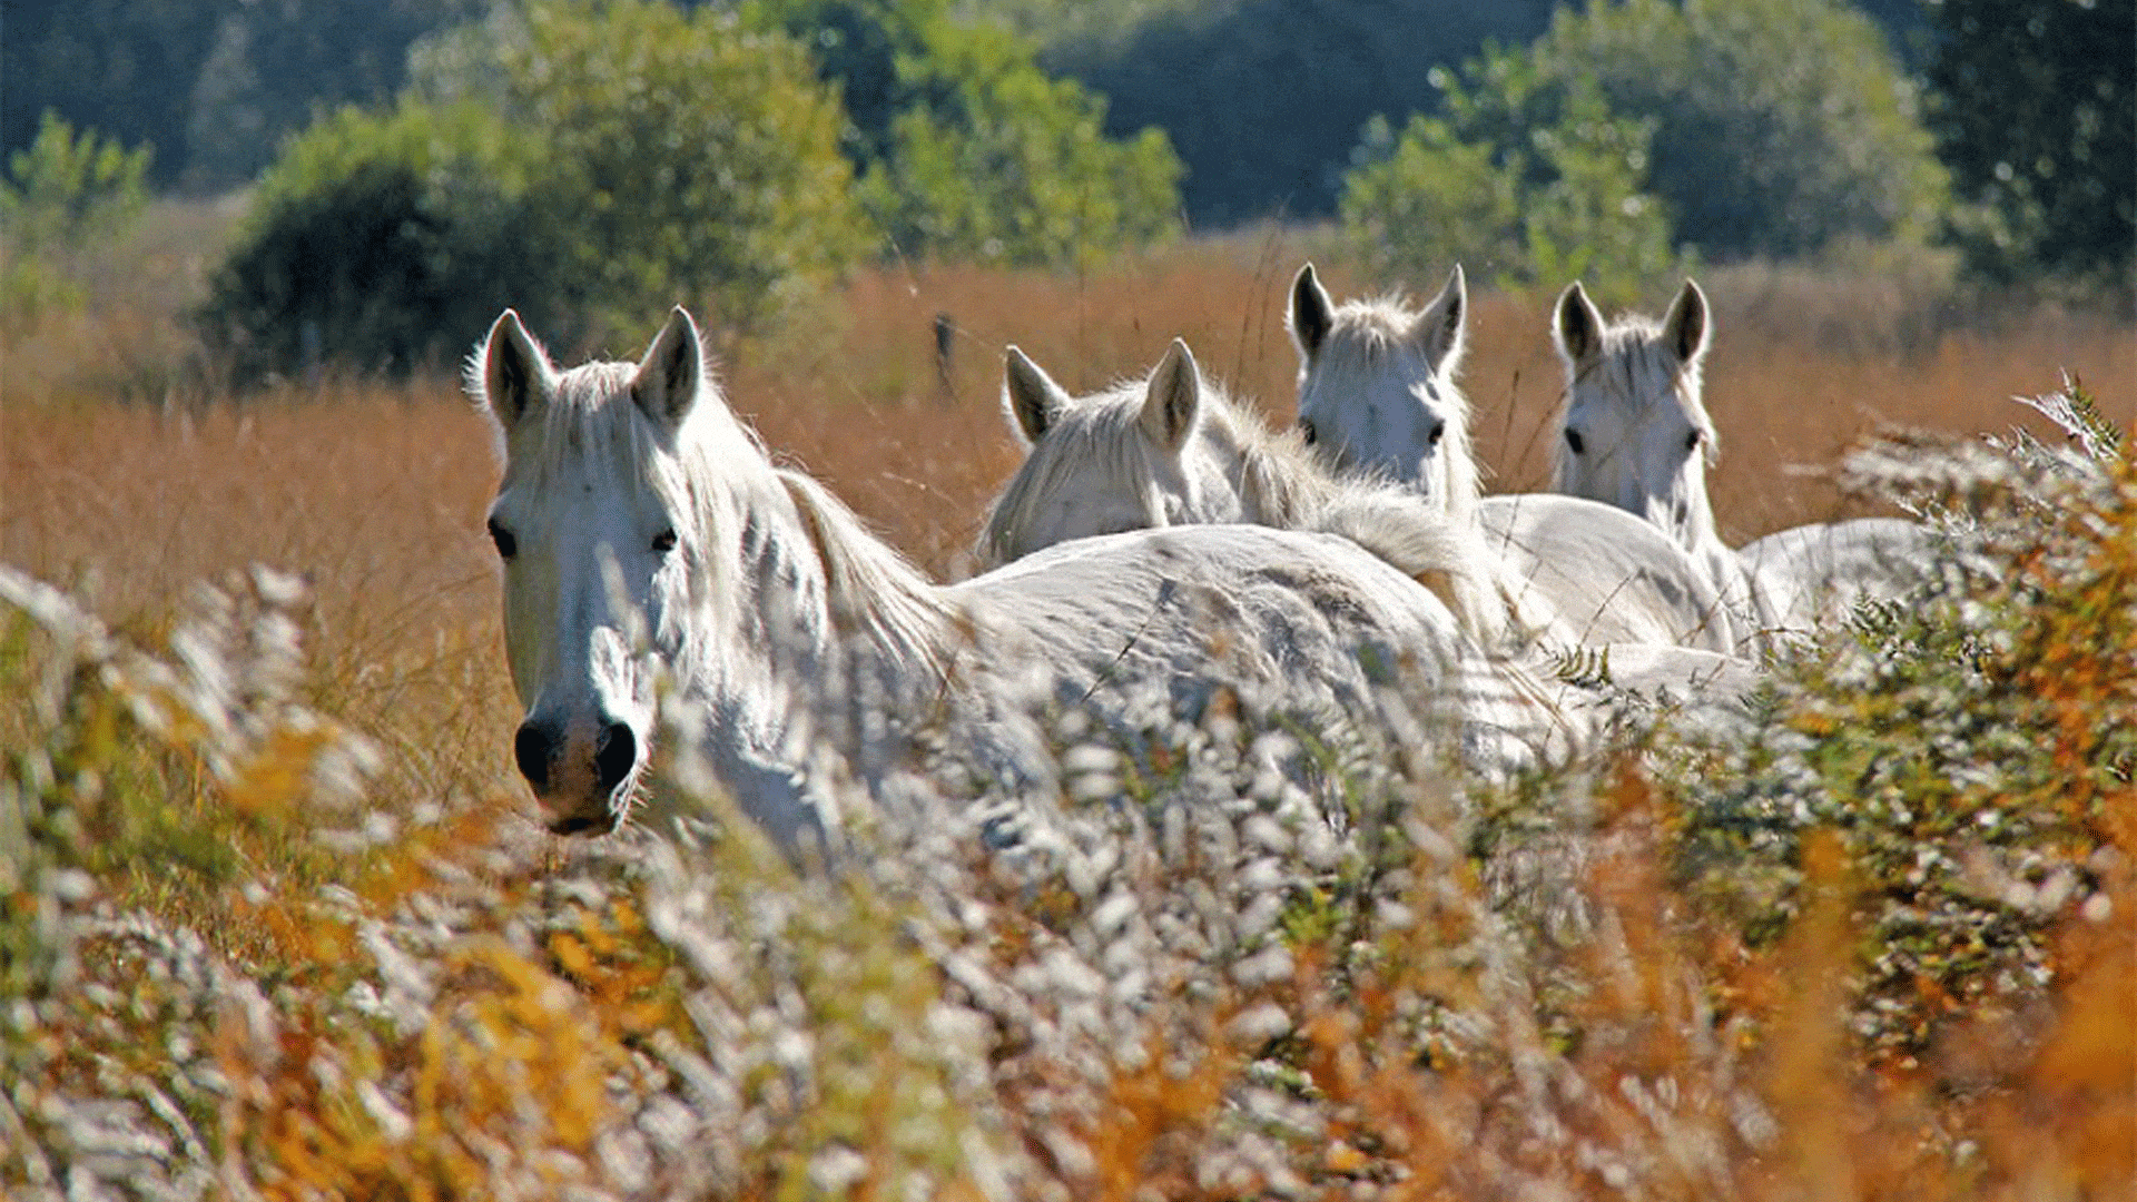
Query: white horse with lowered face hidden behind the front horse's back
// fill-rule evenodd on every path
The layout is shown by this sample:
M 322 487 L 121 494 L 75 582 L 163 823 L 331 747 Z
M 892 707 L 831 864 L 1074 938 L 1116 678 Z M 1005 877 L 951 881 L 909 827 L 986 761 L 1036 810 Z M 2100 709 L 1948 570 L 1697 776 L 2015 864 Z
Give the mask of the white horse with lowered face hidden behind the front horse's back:
M 1011 428 L 1026 441 L 1026 458 L 987 511 L 979 539 L 985 565 L 1124 528 L 1254 522 L 1323 530 L 1357 541 L 1434 588 L 1487 648 L 1519 654 L 1530 642 L 1622 644 L 1611 650 L 1613 678 L 1622 684 L 1682 689 L 1727 676 L 1727 691 L 1748 689 L 1742 674 L 1705 657 L 1718 648 L 1673 654 L 1680 650 L 1673 639 L 1618 620 L 1620 607 L 1596 605 L 1575 590 L 1554 597 L 1549 586 L 1539 586 L 1571 575 L 1532 563 L 1528 575 L 1517 575 L 1509 565 L 1522 556 L 1494 554 L 1502 548 L 1485 548 L 1475 524 L 1449 518 L 1417 492 L 1329 471 L 1301 438 L 1269 430 L 1205 383 L 1186 342 L 1173 340 L 1148 381 L 1083 398 L 1011 346 L 1002 402 Z M 1547 498 L 1547 505 L 1558 500 Z M 1656 560 L 1682 560 L 1641 522 L 1594 509 L 1631 526 L 1635 543 L 1660 543 Z M 1631 580 L 1635 584 L 1620 597 L 1660 592 L 1637 575 L 1637 567 Z M 1675 584 L 1697 595 L 1697 580 Z M 1699 603 L 1714 605 L 1714 597 Z M 1598 627 L 1603 637 L 1596 637 Z M 1648 637 L 1609 637 L 1626 627 Z M 1658 650 L 1671 654 L 1654 654 Z

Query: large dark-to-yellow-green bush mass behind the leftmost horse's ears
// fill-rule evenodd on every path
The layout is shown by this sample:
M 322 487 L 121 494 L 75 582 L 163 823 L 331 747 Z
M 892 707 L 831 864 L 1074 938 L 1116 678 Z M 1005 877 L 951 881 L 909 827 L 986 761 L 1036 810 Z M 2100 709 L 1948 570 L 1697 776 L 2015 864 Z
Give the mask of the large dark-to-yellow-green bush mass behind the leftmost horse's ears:
M 269 169 L 199 314 L 239 383 L 449 364 L 504 306 L 573 342 L 648 304 L 754 329 L 865 248 L 838 107 L 793 43 L 648 0 L 502 32 L 434 56 L 459 73 L 438 101 L 344 109 Z

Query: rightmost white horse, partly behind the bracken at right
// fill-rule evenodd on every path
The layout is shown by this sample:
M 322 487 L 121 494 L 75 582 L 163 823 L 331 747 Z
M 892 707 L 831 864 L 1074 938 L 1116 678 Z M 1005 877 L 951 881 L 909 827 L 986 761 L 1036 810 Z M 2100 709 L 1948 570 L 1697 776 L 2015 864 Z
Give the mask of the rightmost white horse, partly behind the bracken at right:
M 1554 488 L 1654 522 L 1761 633 L 1799 633 L 1863 597 L 1898 597 L 1930 554 L 1928 530 L 1896 518 L 1819 522 L 1731 550 L 1714 526 L 1707 466 L 1718 453 L 1701 400 L 1707 297 L 1684 280 L 1663 321 L 1605 323 L 1579 282 L 1558 299 L 1551 340 L 1566 364 Z

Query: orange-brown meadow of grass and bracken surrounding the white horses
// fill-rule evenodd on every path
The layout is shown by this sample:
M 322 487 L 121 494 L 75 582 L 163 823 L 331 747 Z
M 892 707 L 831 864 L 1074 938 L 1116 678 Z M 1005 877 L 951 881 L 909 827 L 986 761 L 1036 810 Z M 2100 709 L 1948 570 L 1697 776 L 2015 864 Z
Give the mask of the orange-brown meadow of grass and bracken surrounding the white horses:
M 1987 567 L 1778 665 L 1733 746 L 1635 723 L 1479 811 L 1406 761 L 1361 770 L 1404 834 L 1284 892 L 1259 935 L 1282 971 L 1190 971 L 1079 1029 L 1066 992 L 1011 1020 L 974 984 L 1109 965 L 1075 890 L 972 868 L 985 915 L 951 935 L 895 868 L 795 877 L 731 823 L 682 849 L 541 834 L 483 423 L 449 370 L 222 396 L 177 321 L 214 229 L 158 218 L 90 310 L 6 332 L 0 565 L 83 607 L 0 603 L 17 1196 L 2137 1196 L 2126 462 L 1902 481 L 1977 515 Z M 722 376 L 780 458 L 955 577 L 1017 460 L 1007 342 L 1083 391 L 1182 336 L 1289 421 L 1306 257 L 1338 297 L 1387 284 L 1291 231 L 1075 276 L 889 265 Z M 1838 471 L 1878 432 L 2060 447 L 2009 398 L 2064 372 L 2137 423 L 2122 319 L 1874 272 L 1701 284 L 1731 541 L 1891 511 Z M 1475 295 L 1494 490 L 1547 483 L 1551 299 Z M 1953 633 L 1968 605 L 1992 635 Z M 1776 798 L 1808 817 L 1746 817 Z M 1524 841 L 1584 847 L 1551 883 L 1579 937 L 1498 888 Z

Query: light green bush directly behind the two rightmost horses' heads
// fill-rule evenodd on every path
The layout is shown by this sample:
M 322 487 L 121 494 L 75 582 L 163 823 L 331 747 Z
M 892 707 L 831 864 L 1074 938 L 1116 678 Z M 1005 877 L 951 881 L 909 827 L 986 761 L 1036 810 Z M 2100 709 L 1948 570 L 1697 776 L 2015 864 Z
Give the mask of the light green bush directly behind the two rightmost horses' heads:
M 1374 118 L 1344 175 L 1344 231 L 1368 263 L 1410 280 L 1449 263 L 1507 284 L 1586 280 L 1618 304 L 1675 267 L 1645 192 L 1654 122 L 1611 115 L 1522 51 L 1489 47 L 1460 81 L 1432 81 L 1440 115 L 1400 137 Z

